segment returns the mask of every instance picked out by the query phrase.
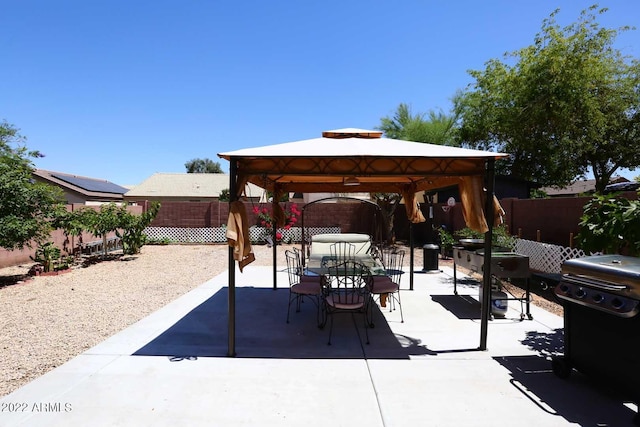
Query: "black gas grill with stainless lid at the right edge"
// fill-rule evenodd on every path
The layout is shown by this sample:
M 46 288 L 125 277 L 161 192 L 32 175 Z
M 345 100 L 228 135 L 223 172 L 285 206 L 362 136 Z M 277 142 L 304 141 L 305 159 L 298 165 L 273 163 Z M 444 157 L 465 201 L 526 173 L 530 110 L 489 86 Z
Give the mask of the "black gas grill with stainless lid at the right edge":
M 564 307 L 564 357 L 572 369 L 607 382 L 640 402 L 640 258 L 596 255 L 567 260 L 555 294 Z

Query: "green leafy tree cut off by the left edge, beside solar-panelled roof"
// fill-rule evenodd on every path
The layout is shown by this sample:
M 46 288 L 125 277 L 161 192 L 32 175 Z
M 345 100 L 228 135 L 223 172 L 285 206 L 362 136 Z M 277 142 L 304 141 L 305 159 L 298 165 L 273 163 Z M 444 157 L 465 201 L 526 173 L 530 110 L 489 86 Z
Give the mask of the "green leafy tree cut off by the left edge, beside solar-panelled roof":
M 32 158 L 41 157 L 21 144 L 18 130 L 0 122 L 0 247 L 30 247 L 49 238 L 49 220 L 63 209 L 62 192 L 33 180 Z

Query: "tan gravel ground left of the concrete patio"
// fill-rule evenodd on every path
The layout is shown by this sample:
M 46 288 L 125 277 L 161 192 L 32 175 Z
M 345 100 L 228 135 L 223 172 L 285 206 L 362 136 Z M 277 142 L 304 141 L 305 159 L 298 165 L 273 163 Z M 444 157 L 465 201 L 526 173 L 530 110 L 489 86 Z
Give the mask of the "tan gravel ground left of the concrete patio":
M 278 265 L 286 265 L 287 247 L 278 248 Z M 254 253 L 252 265 L 271 265 L 271 248 Z M 26 281 L 18 279 L 32 264 L 0 269 L 0 397 L 223 273 L 227 254 L 225 245 L 144 246 L 135 256 Z M 422 263 L 416 248 L 414 265 Z M 537 295 L 533 303 L 557 311 Z

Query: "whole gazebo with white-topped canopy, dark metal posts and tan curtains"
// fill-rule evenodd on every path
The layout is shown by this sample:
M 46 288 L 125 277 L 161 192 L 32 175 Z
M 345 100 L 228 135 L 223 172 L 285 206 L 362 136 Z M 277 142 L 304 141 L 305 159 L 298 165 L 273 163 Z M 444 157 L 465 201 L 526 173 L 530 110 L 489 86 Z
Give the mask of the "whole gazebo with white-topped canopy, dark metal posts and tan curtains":
M 228 356 L 236 354 L 235 261 L 242 271 L 253 255 L 249 253 L 248 241 L 249 248 L 241 241 L 242 228 L 247 224 L 240 198 L 248 182 L 273 193 L 276 221 L 284 219 L 278 200 L 285 193 L 384 192 L 402 194 L 407 218 L 412 223 L 425 220 L 416 203 L 416 192 L 457 185 L 467 226 L 486 233 L 478 347 L 486 350 L 491 297 L 491 276 L 487 273 L 491 271 L 491 234 L 496 218 L 502 213 L 493 195 L 494 164 L 506 154 L 389 139 L 383 138 L 379 131 L 347 128 L 325 131 L 320 138 L 246 148 L 218 156 L 230 163 L 229 215 L 238 224 L 238 234 L 232 231 L 229 247 Z M 273 250 L 275 287 L 275 246 Z

